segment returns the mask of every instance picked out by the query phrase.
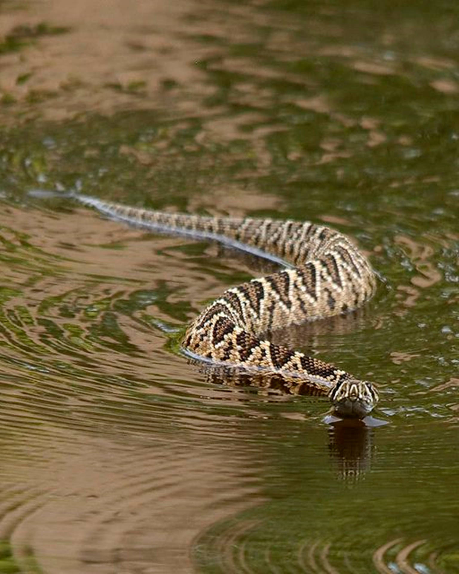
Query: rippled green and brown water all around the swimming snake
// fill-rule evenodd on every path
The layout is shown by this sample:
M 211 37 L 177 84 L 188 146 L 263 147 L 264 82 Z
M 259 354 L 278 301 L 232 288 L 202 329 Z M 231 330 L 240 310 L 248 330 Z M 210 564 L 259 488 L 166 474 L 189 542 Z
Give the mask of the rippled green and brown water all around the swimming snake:
M 2 5 L 0 572 L 459 571 L 458 10 Z M 355 238 L 374 300 L 275 336 L 388 424 L 180 354 L 269 264 L 37 187 Z

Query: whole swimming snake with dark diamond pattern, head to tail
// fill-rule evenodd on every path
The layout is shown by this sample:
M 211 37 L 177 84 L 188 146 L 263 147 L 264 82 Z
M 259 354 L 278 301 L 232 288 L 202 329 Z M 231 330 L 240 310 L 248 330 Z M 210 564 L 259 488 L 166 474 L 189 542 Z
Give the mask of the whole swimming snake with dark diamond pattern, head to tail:
M 182 349 L 195 360 L 277 375 L 293 394 L 328 395 L 334 414 L 364 418 L 379 400 L 375 383 L 274 344 L 269 333 L 361 307 L 376 289 L 368 259 L 344 234 L 291 219 L 201 216 L 147 210 L 68 193 L 131 226 L 208 239 L 270 259 L 282 269 L 225 290 L 186 328 Z

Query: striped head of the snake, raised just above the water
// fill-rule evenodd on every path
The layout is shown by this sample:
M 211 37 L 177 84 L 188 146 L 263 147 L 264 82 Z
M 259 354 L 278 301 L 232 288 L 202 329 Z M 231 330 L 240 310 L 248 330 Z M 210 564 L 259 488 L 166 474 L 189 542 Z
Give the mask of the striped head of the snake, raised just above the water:
M 357 379 L 339 381 L 328 396 L 336 414 L 341 417 L 366 417 L 379 400 L 372 383 Z

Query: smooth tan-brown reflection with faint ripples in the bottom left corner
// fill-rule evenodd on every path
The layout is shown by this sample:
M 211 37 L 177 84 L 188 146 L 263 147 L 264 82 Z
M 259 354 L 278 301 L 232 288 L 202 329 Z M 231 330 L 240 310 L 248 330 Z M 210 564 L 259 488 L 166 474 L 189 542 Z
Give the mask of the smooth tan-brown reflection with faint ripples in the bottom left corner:
M 124 439 L 108 426 L 103 437 L 100 428 L 91 436 L 57 422 L 9 453 L 14 481 L 1 480 L 0 537 L 21 571 L 33 559 L 49 573 L 149 572 L 153 565 L 191 572 L 196 534 L 247 507 L 257 492 L 228 444 L 190 446 L 180 433 L 164 440 L 146 421 L 130 428 L 126 420 Z

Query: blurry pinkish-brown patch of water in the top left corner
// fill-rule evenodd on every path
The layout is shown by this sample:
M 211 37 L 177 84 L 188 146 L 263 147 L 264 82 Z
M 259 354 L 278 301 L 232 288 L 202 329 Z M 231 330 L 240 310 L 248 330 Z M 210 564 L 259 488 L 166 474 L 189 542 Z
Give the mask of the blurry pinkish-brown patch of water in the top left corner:
M 203 95 L 203 74 L 189 63 L 206 50 L 181 36 L 189 28 L 184 18 L 194 9 L 188 0 L 136 2 L 135 10 L 129 2 L 48 0 L 4 13 L 4 35 L 24 22 L 69 30 L 2 56 L 1 88 L 30 117 L 38 111 L 55 120 L 87 110 L 165 106 L 168 82 L 193 84 Z M 18 82 L 26 75 L 26 82 Z

